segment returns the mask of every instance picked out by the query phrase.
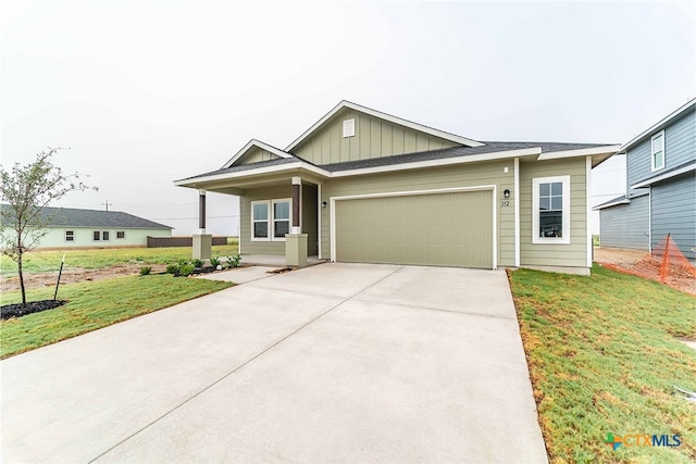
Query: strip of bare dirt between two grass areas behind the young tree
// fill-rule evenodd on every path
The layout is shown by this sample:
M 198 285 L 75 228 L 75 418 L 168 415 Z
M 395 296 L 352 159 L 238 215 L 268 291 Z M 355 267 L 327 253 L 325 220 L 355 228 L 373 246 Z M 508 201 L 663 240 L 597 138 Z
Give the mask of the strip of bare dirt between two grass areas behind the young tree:
M 152 267 L 151 273 L 163 273 L 166 269 L 164 264 L 148 264 Z M 102 280 L 112 277 L 122 277 L 128 275 L 138 275 L 140 273 L 141 264 L 128 264 L 123 266 L 104 267 L 101 269 L 63 269 L 61 276 L 61 285 L 63 284 L 76 284 L 80 281 Z M 24 286 L 29 288 L 53 287 L 58 279 L 58 272 L 52 273 L 37 273 L 25 274 Z M 0 276 L 0 291 L 13 291 L 20 289 L 20 277 Z

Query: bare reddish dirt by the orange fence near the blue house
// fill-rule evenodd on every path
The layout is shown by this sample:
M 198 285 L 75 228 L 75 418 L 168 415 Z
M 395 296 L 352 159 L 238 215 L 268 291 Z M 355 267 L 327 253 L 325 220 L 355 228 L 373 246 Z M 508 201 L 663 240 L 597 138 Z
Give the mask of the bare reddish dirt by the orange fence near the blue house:
M 621 248 L 595 248 L 595 261 L 614 271 L 660 281 L 659 263 L 652 260 L 647 251 Z M 639 268 L 642 273 L 634 271 L 637 268 Z M 649 273 L 649 271 L 652 271 L 652 273 Z M 666 285 L 686 293 L 696 294 L 696 279 L 692 276 L 692 271 L 693 269 L 684 269 L 680 266 L 670 266 L 670 276 Z M 650 275 L 646 275 L 646 272 Z

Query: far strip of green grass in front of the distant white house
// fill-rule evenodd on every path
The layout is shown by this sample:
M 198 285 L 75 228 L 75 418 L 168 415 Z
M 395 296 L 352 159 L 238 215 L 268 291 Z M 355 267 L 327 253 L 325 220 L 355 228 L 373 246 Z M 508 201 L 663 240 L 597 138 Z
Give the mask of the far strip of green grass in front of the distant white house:
M 226 246 L 212 249 L 214 258 L 236 254 L 237 238 L 228 239 Z M 60 268 L 65 253 L 65 268 L 82 267 L 96 269 L 123 264 L 174 264 L 178 260 L 191 259 L 191 247 L 176 248 L 108 248 L 91 250 L 32 251 L 24 256 L 27 273 L 55 272 Z M 16 264 L 8 256 L 0 255 L 0 274 L 15 275 Z

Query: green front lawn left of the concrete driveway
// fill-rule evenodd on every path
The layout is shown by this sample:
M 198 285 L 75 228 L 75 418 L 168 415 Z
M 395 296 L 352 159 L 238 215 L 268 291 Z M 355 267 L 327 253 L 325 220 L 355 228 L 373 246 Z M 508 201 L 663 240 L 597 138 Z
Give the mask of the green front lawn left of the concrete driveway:
M 54 343 L 98 328 L 231 287 L 233 284 L 172 275 L 117 277 L 61 286 L 67 303 L 54 310 L 0 322 L 0 359 Z M 54 288 L 27 291 L 27 300 L 53 298 Z M 0 304 L 22 301 L 18 291 Z

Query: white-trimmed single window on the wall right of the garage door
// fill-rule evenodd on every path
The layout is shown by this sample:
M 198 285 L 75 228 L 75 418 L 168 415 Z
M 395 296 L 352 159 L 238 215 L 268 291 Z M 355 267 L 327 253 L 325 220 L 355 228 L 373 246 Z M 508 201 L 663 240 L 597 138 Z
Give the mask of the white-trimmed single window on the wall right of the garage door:
M 532 242 L 570 243 L 570 176 L 532 179 Z

